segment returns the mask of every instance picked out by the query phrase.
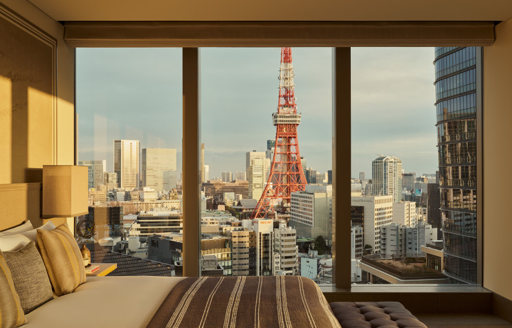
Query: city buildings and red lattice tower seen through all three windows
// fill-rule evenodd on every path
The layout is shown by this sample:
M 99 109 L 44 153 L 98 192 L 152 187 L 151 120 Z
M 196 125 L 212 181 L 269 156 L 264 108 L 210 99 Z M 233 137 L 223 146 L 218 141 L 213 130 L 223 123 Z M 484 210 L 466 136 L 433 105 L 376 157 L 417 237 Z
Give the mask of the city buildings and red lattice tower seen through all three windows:
M 479 48 L 432 52 L 437 167 L 404 170 L 412 165 L 401 154 L 365 157 L 371 172 L 352 167 L 353 284 L 476 283 Z M 272 115 L 275 135 L 244 149 L 237 171 L 211 161 L 210 143 L 201 143 L 201 274 L 302 275 L 331 284 L 333 172 L 308 166 L 299 152 L 307 116 L 295 102 L 292 49 L 280 53 L 277 109 L 257 113 Z M 101 147 L 111 158 L 78 158 L 89 168 L 89 214 L 76 220 L 77 240 L 97 262 L 125 263 L 118 275 L 182 275 L 181 149 L 136 138 L 108 142 Z M 210 174 L 213 166 L 220 176 Z

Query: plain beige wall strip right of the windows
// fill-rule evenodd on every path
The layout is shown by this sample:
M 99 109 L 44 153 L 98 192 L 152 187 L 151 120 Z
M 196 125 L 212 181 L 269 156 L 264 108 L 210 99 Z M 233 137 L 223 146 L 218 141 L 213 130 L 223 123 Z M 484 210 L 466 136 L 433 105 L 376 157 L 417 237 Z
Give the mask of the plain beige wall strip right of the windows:
M 512 233 L 506 175 L 511 170 L 512 20 L 484 48 L 484 287 L 512 300 Z

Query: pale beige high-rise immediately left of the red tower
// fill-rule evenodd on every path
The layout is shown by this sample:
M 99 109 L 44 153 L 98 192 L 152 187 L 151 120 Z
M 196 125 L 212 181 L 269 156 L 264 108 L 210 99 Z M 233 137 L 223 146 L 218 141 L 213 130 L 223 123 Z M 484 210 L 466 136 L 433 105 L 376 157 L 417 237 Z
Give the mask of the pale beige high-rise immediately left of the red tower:
M 268 174 L 270 173 L 271 160 L 266 158 L 265 152 L 246 153 L 246 172 L 249 181 L 249 198 L 259 200 L 262 197 Z

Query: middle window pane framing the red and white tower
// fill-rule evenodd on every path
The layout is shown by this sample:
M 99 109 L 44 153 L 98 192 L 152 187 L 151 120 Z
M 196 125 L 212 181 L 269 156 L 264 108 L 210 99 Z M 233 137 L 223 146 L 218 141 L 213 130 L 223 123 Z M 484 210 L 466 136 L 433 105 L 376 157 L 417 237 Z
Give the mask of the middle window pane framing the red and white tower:
M 331 284 L 331 48 L 200 52 L 201 274 Z

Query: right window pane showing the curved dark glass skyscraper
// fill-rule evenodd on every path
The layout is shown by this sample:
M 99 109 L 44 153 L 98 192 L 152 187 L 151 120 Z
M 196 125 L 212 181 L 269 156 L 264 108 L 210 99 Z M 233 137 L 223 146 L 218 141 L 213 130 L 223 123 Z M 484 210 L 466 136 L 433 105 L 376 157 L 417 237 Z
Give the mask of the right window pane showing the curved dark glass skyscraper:
M 351 53 L 352 283 L 477 284 L 481 48 Z

